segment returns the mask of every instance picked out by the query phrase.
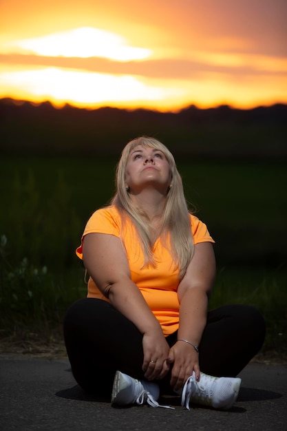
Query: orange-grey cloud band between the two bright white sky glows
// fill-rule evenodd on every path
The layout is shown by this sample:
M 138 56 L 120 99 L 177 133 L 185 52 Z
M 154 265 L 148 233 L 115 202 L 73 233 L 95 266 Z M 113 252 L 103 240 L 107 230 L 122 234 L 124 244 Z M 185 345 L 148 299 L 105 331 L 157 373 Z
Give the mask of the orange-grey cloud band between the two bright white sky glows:
M 61 69 L 81 70 L 114 75 L 132 75 L 145 78 L 189 79 L 200 78 L 202 74 L 226 74 L 233 76 L 270 76 L 287 74 L 287 59 L 267 56 L 247 56 L 235 54 L 194 54 L 194 59 L 154 59 L 128 61 L 125 63 L 99 57 L 80 59 L 78 57 L 51 57 L 23 54 L 0 54 L 2 65 L 25 65 L 61 67 Z

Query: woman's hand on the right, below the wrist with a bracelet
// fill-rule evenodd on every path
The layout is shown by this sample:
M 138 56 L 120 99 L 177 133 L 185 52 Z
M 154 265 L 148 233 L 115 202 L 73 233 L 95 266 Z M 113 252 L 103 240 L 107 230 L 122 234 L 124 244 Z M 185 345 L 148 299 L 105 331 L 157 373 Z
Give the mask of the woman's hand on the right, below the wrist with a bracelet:
M 187 379 L 195 372 L 195 379 L 200 379 L 198 353 L 188 343 L 178 341 L 169 350 L 167 363 L 173 364 L 171 371 L 171 388 L 180 390 Z

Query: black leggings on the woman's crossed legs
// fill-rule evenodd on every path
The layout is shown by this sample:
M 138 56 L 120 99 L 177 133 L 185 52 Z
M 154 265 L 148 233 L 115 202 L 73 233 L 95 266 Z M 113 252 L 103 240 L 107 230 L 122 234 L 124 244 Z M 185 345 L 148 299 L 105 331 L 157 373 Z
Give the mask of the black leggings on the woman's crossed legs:
M 84 298 L 75 302 L 64 320 L 67 355 L 76 382 L 93 395 L 111 395 L 116 370 L 138 379 L 142 372 L 142 335 L 109 302 Z M 259 312 L 244 305 L 209 311 L 200 342 L 200 370 L 213 376 L 235 377 L 258 353 L 265 337 Z M 177 333 L 167 337 L 169 346 Z M 170 375 L 157 383 L 171 393 Z

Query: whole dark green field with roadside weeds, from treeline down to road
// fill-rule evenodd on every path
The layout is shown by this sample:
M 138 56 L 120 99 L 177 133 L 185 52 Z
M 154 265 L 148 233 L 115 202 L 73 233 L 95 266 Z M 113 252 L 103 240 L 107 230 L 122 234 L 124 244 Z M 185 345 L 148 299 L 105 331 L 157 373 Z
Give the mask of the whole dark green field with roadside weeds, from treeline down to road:
M 1 157 L 3 336 L 28 326 L 49 331 L 85 295 L 74 249 L 89 215 L 114 193 L 115 165 L 97 156 Z M 268 323 L 265 349 L 286 350 L 286 165 L 178 160 L 178 169 L 216 242 L 211 306 L 257 306 Z

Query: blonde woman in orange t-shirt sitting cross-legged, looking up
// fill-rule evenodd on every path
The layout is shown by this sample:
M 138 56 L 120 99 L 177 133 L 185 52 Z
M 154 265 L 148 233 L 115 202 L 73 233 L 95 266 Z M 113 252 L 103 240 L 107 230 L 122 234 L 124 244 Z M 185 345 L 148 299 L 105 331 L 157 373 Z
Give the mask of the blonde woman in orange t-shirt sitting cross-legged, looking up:
M 265 325 L 249 306 L 208 312 L 213 242 L 189 213 L 167 147 L 131 140 L 116 194 L 89 219 L 76 250 L 88 293 L 67 311 L 64 335 L 84 390 L 111 395 L 114 405 L 159 406 L 160 394 L 176 393 L 188 409 L 233 406 L 236 376 L 261 348 Z

